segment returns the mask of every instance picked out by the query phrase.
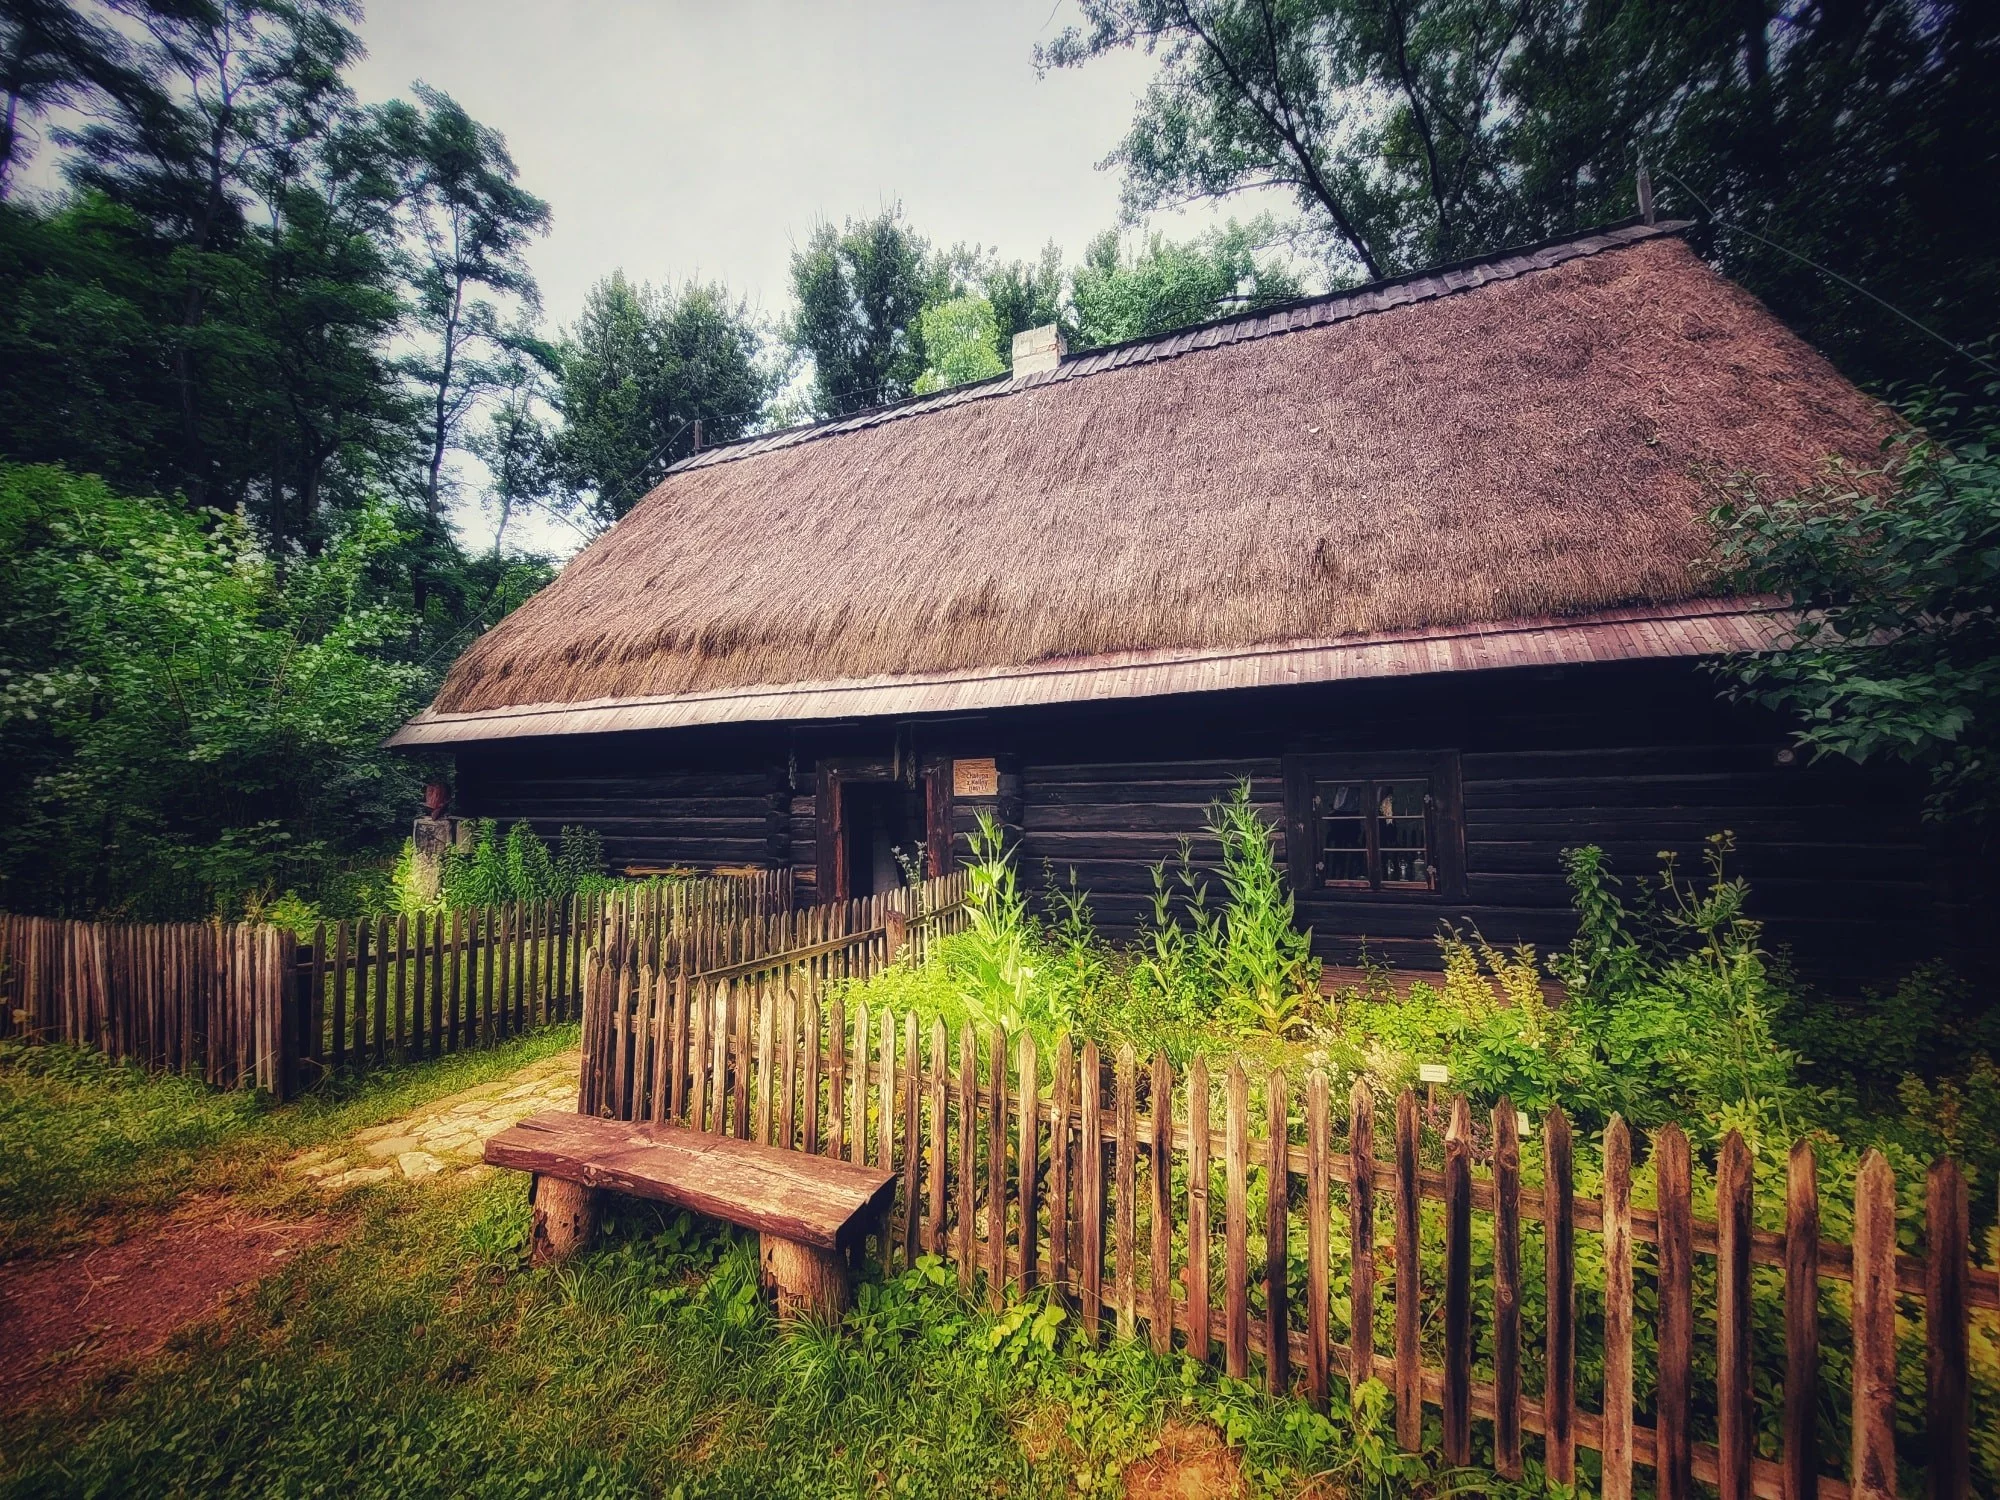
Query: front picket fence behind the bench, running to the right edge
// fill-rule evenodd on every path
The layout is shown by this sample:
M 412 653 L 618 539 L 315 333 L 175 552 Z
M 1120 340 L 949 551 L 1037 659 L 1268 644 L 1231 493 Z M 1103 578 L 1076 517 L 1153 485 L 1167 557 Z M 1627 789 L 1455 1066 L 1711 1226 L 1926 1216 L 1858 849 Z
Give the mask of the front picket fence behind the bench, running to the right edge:
M 838 952 L 862 976 L 886 960 L 886 934 L 854 936 L 874 946 Z M 1632 1202 L 1632 1136 L 1616 1118 L 1602 1142 L 1602 1196 L 1580 1198 L 1560 1110 L 1540 1126 L 1534 1186 L 1522 1180 L 1522 1122 L 1504 1102 L 1474 1130 L 1466 1100 L 1452 1100 L 1440 1140 L 1438 1120 L 1426 1132 L 1424 1110 L 1404 1092 L 1384 1160 L 1366 1082 L 1356 1082 L 1336 1140 L 1324 1072 L 1308 1074 L 1300 1096 L 1282 1068 L 1260 1070 L 1254 1106 L 1242 1060 L 1210 1078 L 1198 1058 L 1176 1080 L 1162 1056 L 1142 1068 L 1128 1046 L 1106 1068 L 1096 1044 L 1062 1038 L 1050 1068 L 1034 1036 L 970 1026 L 954 1058 L 942 1022 L 928 1028 L 926 1050 L 916 1014 L 870 1018 L 842 988 L 828 992 L 816 968 L 696 980 L 648 966 L 616 938 L 586 968 L 580 1110 L 892 1168 L 886 1266 L 944 1256 L 960 1286 L 984 1280 L 996 1304 L 1046 1284 L 1092 1338 L 1106 1322 L 1122 1336 L 1144 1328 L 1154 1350 L 1178 1340 L 1238 1378 L 1256 1360 L 1272 1392 L 1298 1386 L 1314 1404 L 1334 1376 L 1374 1378 L 1392 1392 L 1404 1448 L 1424 1442 L 1430 1406 L 1442 1416 L 1446 1462 L 1474 1458 L 1474 1424 L 1484 1424 L 1482 1454 L 1510 1478 L 1524 1472 L 1528 1436 L 1562 1482 L 1588 1448 L 1610 1500 L 1632 1494 L 1640 1468 L 1654 1472 L 1662 1500 L 1690 1500 L 1696 1482 L 1724 1500 L 1896 1494 L 1898 1298 L 1920 1300 L 1928 1492 L 1970 1494 L 1968 1320 L 1974 1308 L 2000 1310 L 2000 1276 L 1970 1262 L 1966 1184 L 1948 1160 L 1930 1170 L 1928 1252 L 1910 1256 L 1896 1250 L 1894 1182 L 1874 1152 L 1854 1184 L 1854 1244 L 1836 1244 L 1820 1234 L 1804 1144 L 1790 1160 L 1786 1230 L 1774 1234 L 1752 1222 L 1752 1160 L 1736 1134 L 1720 1154 L 1716 1214 L 1700 1218 L 1676 1126 L 1650 1142 L 1658 1190 L 1646 1208 Z M 1476 1222 L 1482 1250 L 1490 1246 L 1478 1286 Z M 1522 1330 L 1524 1226 L 1538 1226 L 1528 1238 L 1542 1260 L 1538 1338 Z M 1584 1262 L 1602 1268 L 1590 1288 L 1578 1284 L 1578 1236 L 1600 1240 L 1602 1254 Z M 1426 1240 L 1442 1242 L 1442 1286 L 1420 1266 Z M 1700 1260 L 1712 1274 L 1698 1274 Z M 1760 1268 L 1784 1280 L 1782 1396 L 1768 1398 L 1782 1404 L 1776 1460 L 1756 1450 Z M 1344 1308 L 1332 1296 L 1342 1282 Z M 1698 1284 L 1716 1288 L 1700 1318 Z M 1602 1342 L 1592 1390 L 1578 1380 L 1580 1290 L 1602 1308 L 1588 1326 Z M 1818 1432 L 1822 1396 L 1840 1394 L 1838 1358 L 1822 1360 L 1822 1290 L 1836 1316 L 1846 1308 L 1848 1328 L 1830 1348 L 1852 1348 L 1852 1446 L 1842 1456 L 1824 1454 Z M 1634 1368 L 1640 1308 L 1656 1308 L 1646 1382 Z M 1718 1368 L 1700 1402 L 1698 1338 Z M 1638 1388 L 1652 1390 L 1644 1410 Z

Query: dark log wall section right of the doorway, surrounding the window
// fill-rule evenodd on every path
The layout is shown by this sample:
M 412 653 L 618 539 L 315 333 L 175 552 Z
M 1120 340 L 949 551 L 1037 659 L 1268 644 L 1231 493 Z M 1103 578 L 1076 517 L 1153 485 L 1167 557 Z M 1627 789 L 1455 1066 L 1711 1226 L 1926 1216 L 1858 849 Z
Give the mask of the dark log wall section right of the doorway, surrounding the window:
M 1328 960 L 1352 962 L 1366 938 L 1396 964 L 1434 966 L 1444 920 L 1546 952 L 1572 936 L 1562 850 L 1600 844 L 1630 888 L 1660 868 L 1662 850 L 1684 874 L 1704 874 L 1706 840 L 1724 830 L 1752 914 L 1806 968 L 1884 976 L 1958 946 L 1940 922 L 1944 860 L 1908 778 L 1782 764 L 1782 726 L 1718 700 L 1716 682 L 1688 664 L 1098 706 L 1018 722 L 996 742 L 1020 756 L 1024 878 L 1038 886 L 1044 862 L 1058 882 L 1074 868 L 1112 930 L 1150 908 L 1150 866 L 1172 860 L 1180 838 L 1192 838 L 1196 864 L 1214 858 L 1206 810 L 1238 778 L 1288 824 L 1284 754 L 1456 752 L 1462 890 L 1302 886 L 1300 920 Z

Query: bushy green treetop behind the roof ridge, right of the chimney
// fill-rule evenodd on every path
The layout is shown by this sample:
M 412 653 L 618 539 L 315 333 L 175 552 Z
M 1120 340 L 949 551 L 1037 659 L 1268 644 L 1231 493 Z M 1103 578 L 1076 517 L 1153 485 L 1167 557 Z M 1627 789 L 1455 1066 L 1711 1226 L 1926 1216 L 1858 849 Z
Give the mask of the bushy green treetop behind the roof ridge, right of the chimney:
M 1266 224 L 1230 224 L 1204 240 L 1172 244 L 1154 234 L 1122 254 L 1106 230 L 1072 276 L 1076 338 L 1082 348 L 1146 338 L 1300 294 L 1282 266 L 1260 260 Z

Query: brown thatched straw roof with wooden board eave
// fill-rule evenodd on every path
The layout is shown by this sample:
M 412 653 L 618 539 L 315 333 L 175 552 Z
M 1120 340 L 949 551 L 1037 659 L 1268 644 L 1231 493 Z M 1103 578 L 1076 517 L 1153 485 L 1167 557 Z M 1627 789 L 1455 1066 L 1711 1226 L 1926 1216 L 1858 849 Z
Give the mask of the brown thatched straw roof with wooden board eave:
M 1716 478 L 1888 428 L 1676 236 L 1600 232 L 700 454 L 398 742 L 1740 650 Z

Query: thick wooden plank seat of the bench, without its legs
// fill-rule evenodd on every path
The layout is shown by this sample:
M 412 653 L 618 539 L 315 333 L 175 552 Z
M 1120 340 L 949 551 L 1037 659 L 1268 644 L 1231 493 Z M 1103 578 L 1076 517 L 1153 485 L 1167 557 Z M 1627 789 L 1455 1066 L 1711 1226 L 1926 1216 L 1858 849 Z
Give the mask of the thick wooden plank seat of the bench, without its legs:
M 486 1160 L 652 1198 L 820 1250 L 846 1248 L 896 1188 L 880 1168 L 674 1124 L 560 1112 L 528 1116 L 488 1138 Z

